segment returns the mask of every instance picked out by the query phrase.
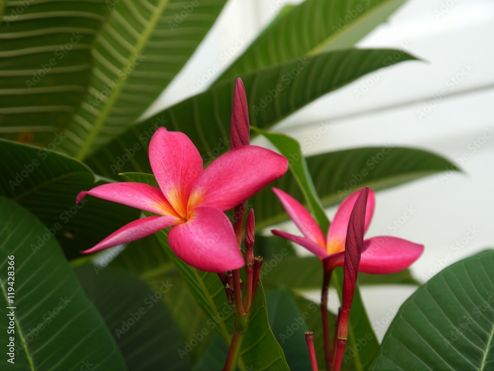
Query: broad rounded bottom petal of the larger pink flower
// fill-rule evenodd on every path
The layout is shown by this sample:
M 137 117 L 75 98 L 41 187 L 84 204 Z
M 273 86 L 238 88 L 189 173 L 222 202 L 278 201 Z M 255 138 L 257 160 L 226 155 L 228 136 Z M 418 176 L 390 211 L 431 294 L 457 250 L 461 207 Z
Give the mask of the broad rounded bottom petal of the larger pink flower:
M 228 217 L 211 206 L 198 206 L 189 220 L 168 233 L 168 244 L 184 262 L 207 272 L 226 272 L 245 264 Z

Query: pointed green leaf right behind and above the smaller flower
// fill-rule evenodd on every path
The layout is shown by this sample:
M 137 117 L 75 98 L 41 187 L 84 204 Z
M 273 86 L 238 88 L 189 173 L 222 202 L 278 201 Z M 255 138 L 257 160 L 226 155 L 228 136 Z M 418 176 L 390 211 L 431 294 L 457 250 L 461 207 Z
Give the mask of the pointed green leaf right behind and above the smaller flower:
M 288 156 L 288 160 L 292 163 L 299 161 L 301 156 L 296 155 Z M 378 191 L 445 170 L 458 169 L 434 153 L 404 147 L 356 148 L 310 156 L 306 161 L 316 192 L 325 207 L 339 205 L 364 186 Z M 290 173 L 271 183 L 271 187 L 280 188 L 298 201 L 303 201 L 303 194 Z M 287 218 L 283 206 L 273 197 L 270 188 L 263 189 L 250 199 L 255 207 L 258 228 Z

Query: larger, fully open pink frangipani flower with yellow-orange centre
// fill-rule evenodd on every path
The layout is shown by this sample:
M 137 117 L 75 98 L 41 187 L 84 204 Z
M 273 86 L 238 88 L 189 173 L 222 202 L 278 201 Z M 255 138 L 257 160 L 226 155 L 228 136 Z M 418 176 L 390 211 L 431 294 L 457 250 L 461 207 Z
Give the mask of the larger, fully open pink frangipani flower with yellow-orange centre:
M 192 141 L 162 127 L 149 144 L 149 160 L 159 188 L 134 182 L 103 184 L 81 192 L 77 202 L 91 195 L 159 216 L 135 220 L 82 252 L 125 244 L 173 226 L 168 244 L 187 264 L 209 272 L 242 267 L 245 261 L 224 211 L 281 177 L 287 171 L 287 159 L 266 148 L 243 146 L 203 170 Z

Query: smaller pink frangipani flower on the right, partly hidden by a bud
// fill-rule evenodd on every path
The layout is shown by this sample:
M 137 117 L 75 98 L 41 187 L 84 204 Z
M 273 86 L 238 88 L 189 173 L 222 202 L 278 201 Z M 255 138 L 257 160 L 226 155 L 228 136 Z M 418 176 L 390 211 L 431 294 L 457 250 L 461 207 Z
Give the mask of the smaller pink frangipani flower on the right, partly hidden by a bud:
M 348 196 L 336 211 L 329 226 L 328 237 L 325 238 L 321 228 L 312 215 L 300 203 L 280 189 L 273 188 L 290 218 L 293 220 L 302 236 L 273 230 L 273 234 L 290 240 L 307 248 L 320 259 L 324 259 L 328 269 L 342 266 L 345 256 L 345 241 L 347 238 L 348 222 L 353 206 L 360 191 Z M 367 199 L 365 231 L 371 222 L 374 212 L 374 193 L 369 189 Z M 422 254 L 423 245 L 396 237 L 381 236 L 364 240 L 359 271 L 371 274 L 390 274 L 408 268 Z

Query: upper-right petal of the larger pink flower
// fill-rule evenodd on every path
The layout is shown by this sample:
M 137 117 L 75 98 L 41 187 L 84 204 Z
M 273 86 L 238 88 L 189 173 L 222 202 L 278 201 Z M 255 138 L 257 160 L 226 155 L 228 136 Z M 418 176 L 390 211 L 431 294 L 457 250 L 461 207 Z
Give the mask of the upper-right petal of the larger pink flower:
M 287 159 L 266 148 L 242 146 L 221 155 L 207 166 L 189 199 L 189 209 L 199 205 L 221 211 L 253 196 L 288 169 Z

